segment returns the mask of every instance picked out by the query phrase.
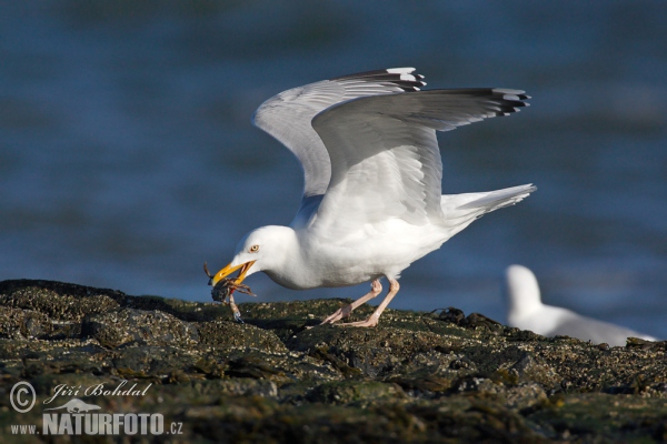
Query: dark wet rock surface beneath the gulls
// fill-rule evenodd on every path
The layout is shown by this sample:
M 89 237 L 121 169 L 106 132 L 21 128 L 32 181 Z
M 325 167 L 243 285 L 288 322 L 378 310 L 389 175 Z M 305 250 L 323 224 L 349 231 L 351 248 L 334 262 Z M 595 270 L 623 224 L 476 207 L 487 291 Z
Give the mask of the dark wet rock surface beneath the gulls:
M 160 413 L 167 431 L 182 424 L 162 436 L 171 442 L 667 440 L 665 342 L 546 339 L 456 309 L 316 326 L 347 302 L 242 303 L 238 324 L 215 303 L 0 282 L 2 436 L 13 424 L 41 431 L 46 407 L 79 397 L 106 413 Z M 10 403 L 20 381 L 37 393 L 23 414 Z M 72 392 L 46 405 L 62 385 Z M 119 385 L 142 393 L 110 394 Z

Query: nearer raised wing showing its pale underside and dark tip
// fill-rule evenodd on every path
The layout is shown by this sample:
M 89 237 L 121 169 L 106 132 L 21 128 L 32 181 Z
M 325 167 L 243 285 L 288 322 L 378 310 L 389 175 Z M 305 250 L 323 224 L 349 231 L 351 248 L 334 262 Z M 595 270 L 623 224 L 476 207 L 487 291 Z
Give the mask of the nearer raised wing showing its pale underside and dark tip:
M 441 218 L 436 130 L 507 115 L 527 105 L 526 99 L 524 91 L 507 89 L 434 90 L 328 108 L 312 121 L 331 159 L 317 223 L 334 234 L 389 218 L 412 224 Z

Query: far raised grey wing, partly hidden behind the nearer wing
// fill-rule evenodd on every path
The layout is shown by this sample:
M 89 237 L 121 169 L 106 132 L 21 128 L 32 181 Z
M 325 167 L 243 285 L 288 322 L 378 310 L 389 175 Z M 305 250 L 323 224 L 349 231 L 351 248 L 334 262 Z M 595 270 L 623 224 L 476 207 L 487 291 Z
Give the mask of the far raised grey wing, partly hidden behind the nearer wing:
M 312 118 L 350 99 L 418 91 L 426 83 L 422 75 L 414 72 L 414 68 L 394 68 L 323 80 L 283 91 L 257 109 L 252 122 L 282 142 L 301 162 L 305 179 L 301 210 L 319 202 L 331 178 L 329 153 L 312 129 Z

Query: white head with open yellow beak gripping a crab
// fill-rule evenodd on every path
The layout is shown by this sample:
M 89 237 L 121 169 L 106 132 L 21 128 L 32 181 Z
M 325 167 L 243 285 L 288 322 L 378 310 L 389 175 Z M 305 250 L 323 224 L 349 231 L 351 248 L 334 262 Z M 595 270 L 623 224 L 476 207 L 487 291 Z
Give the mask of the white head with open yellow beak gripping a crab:
M 286 243 L 292 236 L 293 230 L 287 226 L 269 225 L 252 230 L 237 244 L 231 262 L 211 278 L 211 285 L 237 270 L 239 274 L 235 283 L 239 284 L 252 273 L 280 266 L 286 256 Z

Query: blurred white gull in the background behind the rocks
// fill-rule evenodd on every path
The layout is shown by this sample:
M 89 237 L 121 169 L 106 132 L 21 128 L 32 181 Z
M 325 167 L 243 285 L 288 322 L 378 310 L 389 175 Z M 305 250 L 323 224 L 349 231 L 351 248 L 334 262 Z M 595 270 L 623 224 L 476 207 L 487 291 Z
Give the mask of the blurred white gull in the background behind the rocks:
M 510 265 L 505 276 L 509 305 L 507 323 L 510 326 L 530 330 L 542 336 L 566 335 L 610 346 L 624 346 L 628 337 L 657 341 L 625 326 L 583 316 L 560 306 L 542 304 L 535 274 L 522 265 Z

